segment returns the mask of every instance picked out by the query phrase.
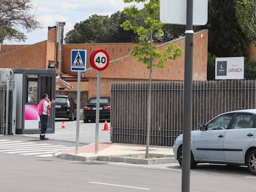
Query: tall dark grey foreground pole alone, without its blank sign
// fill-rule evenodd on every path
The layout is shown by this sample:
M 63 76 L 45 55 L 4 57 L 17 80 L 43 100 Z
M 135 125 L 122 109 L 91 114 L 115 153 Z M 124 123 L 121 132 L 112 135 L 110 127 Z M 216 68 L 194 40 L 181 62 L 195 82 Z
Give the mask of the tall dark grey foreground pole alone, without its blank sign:
M 182 148 L 182 192 L 189 192 L 190 186 L 190 136 L 192 130 L 192 76 L 193 76 L 193 0 L 187 0 L 185 31 L 185 69 L 183 92 L 183 148 Z

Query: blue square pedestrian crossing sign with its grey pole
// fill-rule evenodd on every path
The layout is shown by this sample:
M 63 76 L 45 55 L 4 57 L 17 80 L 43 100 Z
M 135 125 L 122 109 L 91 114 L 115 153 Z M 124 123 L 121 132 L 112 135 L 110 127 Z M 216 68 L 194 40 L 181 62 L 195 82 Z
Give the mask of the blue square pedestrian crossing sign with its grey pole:
M 72 72 L 77 72 L 77 130 L 75 139 L 75 153 L 79 150 L 79 120 L 80 120 L 80 86 L 81 72 L 86 70 L 86 50 L 72 49 L 70 69 Z

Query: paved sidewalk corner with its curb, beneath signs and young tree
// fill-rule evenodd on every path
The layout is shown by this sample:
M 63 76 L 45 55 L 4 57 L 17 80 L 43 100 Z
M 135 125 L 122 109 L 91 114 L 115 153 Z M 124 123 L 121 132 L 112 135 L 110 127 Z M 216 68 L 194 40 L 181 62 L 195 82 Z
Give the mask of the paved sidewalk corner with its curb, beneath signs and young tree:
M 150 146 L 149 158 L 145 159 L 146 146 L 137 144 L 98 143 L 98 154 L 95 154 L 95 144 L 88 144 L 79 148 L 58 152 L 61 159 L 72 161 L 109 161 L 129 164 L 169 164 L 177 162 L 173 156 L 173 149 L 166 146 Z

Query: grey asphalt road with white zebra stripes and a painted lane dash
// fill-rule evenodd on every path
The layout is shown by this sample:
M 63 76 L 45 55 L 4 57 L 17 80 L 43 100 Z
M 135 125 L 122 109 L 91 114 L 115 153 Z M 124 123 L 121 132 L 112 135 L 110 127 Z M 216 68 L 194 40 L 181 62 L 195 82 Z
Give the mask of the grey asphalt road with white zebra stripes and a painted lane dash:
M 70 133 L 74 131 L 71 128 L 72 123 L 75 124 L 75 122 L 67 123 Z M 95 124 L 83 125 L 91 130 L 87 129 L 88 134 L 89 132 L 91 134 L 87 137 L 92 140 L 93 125 Z M 56 133 L 49 134 L 49 138 L 55 136 L 64 139 L 63 135 L 68 134 L 63 131 L 67 129 L 57 127 Z M 104 132 L 100 140 L 108 140 L 107 134 L 109 133 Z M 58 148 L 58 150 L 72 148 L 74 143 L 58 140 L 40 141 L 38 135 L 31 136 L 0 135 L 0 186 L 3 191 L 181 191 L 181 168 L 178 164 L 132 165 L 98 161 L 67 161 L 49 154 L 48 156 L 38 154 L 38 152 L 45 152 L 49 145 L 50 148 Z M 17 141 L 19 141 L 19 147 L 15 146 Z M 36 146 L 38 144 L 48 145 L 39 147 Z M 14 152 L 17 148 L 19 148 L 18 152 Z M 38 151 L 35 152 L 35 150 Z M 53 151 L 50 151 L 50 154 L 51 152 Z M 251 175 L 246 167 L 202 164 L 198 165 L 197 169 L 191 170 L 190 191 L 255 191 L 255 179 L 256 177 Z

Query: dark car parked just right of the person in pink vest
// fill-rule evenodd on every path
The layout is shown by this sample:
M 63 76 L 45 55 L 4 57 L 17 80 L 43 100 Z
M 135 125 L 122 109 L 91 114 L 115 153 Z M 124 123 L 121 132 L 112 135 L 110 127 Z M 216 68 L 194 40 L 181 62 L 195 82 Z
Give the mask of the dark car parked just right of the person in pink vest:
M 55 104 L 55 118 L 77 119 L 77 104 L 67 95 L 57 95 Z

